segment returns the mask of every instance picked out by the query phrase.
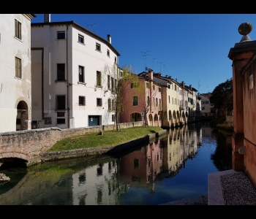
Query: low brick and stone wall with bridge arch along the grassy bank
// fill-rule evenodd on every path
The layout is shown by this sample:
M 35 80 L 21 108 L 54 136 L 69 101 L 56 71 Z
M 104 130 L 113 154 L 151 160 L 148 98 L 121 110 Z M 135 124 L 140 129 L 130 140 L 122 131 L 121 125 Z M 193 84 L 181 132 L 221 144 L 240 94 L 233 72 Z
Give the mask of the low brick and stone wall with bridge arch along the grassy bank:
M 143 122 L 120 124 L 120 128 L 135 126 L 143 126 Z M 97 133 L 102 131 L 103 128 L 104 131 L 110 131 L 115 127 L 113 125 L 68 129 L 52 127 L 0 133 L 0 159 L 21 158 L 28 161 L 28 166 L 37 164 L 40 161 L 40 155 L 45 153 L 57 141 L 67 137 Z

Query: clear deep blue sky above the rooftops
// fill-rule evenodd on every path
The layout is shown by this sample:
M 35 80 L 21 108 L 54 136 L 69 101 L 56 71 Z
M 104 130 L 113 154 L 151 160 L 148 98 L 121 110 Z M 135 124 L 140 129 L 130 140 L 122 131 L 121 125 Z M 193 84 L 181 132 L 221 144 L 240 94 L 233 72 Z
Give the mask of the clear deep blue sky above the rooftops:
M 32 23 L 43 22 L 35 14 Z M 51 14 L 51 21 L 73 20 L 100 37 L 110 34 L 121 54 L 119 66 L 145 67 L 192 85 L 200 93 L 232 77 L 230 48 L 240 42 L 238 26 L 256 28 L 256 14 Z M 256 29 L 249 34 L 256 39 Z

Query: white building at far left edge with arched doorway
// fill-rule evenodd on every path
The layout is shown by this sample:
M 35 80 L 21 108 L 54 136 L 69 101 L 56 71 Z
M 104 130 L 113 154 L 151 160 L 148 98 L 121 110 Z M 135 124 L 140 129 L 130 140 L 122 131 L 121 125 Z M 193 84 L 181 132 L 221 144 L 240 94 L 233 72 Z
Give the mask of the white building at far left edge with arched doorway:
M 0 132 L 31 128 L 31 19 L 0 14 Z

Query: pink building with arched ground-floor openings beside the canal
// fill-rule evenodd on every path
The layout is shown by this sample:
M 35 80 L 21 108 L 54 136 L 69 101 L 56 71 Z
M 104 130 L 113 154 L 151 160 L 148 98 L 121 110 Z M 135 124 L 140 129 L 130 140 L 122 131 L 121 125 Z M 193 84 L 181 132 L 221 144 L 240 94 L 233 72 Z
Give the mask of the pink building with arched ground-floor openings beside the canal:
M 148 69 L 147 76 L 138 75 L 138 82 L 128 82 L 123 89 L 125 110 L 120 123 L 146 120 L 148 126 L 162 126 L 162 88 L 154 82 L 153 70 Z

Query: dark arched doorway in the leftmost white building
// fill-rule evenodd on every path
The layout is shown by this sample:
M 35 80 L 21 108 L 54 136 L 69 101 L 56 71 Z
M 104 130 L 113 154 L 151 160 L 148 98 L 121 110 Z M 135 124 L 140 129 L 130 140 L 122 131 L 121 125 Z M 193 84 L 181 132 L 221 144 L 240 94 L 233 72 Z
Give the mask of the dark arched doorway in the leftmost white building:
M 16 131 L 27 130 L 29 127 L 28 105 L 25 101 L 19 101 L 17 106 Z

